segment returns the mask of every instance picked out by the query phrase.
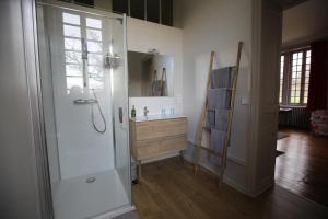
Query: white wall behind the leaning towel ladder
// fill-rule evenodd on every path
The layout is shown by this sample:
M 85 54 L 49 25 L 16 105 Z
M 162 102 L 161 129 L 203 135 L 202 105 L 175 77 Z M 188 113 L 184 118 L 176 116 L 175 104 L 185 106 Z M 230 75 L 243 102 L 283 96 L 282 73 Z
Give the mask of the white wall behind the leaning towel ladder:
M 206 95 L 210 53 L 215 51 L 214 68 L 235 65 L 237 45 L 242 54 L 232 141 L 229 148 L 226 182 L 246 188 L 246 157 L 249 124 L 251 0 L 184 0 L 184 113 L 189 118 L 188 140 L 195 143 L 196 128 Z M 192 155 L 192 147 L 188 151 Z M 203 165 L 213 169 L 204 158 Z

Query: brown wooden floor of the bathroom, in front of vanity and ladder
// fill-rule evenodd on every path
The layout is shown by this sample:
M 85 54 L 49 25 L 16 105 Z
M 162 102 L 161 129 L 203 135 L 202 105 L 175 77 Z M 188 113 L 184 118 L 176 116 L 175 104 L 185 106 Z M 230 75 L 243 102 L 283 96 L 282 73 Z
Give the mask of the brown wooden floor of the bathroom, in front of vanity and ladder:
M 143 165 L 143 181 L 133 185 L 141 219 L 315 219 L 328 210 L 280 187 L 248 198 L 177 158 Z

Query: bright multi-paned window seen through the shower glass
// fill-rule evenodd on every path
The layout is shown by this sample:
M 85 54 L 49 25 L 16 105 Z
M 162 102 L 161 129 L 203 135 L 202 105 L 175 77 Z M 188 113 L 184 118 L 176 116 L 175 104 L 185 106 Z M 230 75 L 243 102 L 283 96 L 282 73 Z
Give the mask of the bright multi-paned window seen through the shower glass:
M 63 12 L 62 27 L 67 93 L 73 87 L 104 89 L 102 20 Z M 83 69 L 83 44 L 86 47 L 87 69 Z M 87 71 L 85 79 L 83 71 Z

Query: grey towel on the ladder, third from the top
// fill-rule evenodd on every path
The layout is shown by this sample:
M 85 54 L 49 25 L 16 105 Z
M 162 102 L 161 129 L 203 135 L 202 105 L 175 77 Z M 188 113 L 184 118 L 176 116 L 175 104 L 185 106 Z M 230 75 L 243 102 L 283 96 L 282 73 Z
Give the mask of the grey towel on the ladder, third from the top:
M 230 110 L 208 110 L 208 126 L 218 130 L 226 131 Z

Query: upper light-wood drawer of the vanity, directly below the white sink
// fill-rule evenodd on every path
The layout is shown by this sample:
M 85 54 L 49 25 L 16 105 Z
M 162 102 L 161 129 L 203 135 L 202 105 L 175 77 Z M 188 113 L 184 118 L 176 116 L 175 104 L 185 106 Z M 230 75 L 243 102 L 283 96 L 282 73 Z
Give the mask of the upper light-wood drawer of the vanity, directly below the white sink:
M 136 127 L 137 140 L 149 140 L 169 136 L 184 135 L 187 131 L 187 119 L 151 120 L 138 123 Z

